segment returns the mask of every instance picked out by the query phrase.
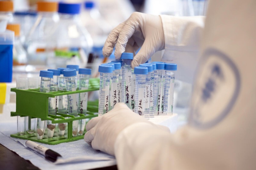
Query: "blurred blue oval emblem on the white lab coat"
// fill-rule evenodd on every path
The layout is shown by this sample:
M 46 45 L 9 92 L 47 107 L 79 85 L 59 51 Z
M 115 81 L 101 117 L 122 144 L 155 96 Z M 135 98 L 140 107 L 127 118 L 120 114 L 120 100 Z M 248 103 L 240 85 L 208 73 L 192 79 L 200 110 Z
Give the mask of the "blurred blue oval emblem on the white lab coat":
M 234 106 L 240 91 L 235 63 L 216 49 L 208 49 L 197 70 L 189 124 L 208 129 L 221 122 Z

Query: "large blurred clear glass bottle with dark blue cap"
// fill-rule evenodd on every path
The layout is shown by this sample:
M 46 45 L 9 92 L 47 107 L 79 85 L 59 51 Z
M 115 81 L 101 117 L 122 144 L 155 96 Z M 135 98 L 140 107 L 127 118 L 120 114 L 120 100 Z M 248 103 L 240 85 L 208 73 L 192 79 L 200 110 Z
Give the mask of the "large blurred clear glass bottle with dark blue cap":
M 92 50 L 92 38 L 81 25 L 81 4 L 59 3 L 60 23 L 53 33 L 57 40 L 55 57 L 57 67 L 79 65 L 84 68 Z

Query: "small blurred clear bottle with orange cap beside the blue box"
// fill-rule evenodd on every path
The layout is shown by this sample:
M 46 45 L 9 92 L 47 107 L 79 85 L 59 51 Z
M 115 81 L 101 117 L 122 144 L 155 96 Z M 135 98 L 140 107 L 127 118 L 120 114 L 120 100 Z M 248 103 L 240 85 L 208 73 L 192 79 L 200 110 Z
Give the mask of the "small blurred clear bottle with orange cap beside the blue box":
M 14 46 L 13 46 L 13 66 L 25 65 L 27 63 L 27 53 L 23 48 L 20 41 L 20 25 L 19 24 L 8 24 L 6 29 L 14 32 Z

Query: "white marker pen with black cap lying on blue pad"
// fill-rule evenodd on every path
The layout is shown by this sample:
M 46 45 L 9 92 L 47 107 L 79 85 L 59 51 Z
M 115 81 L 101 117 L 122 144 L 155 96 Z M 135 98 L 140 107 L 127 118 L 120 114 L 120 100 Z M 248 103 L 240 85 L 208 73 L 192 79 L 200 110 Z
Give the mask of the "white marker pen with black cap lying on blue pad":
M 45 156 L 45 159 L 48 159 L 52 162 L 55 162 L 58 157 L 61 157 L 61 155 L 57 152 L 52 151 L 51 149 L 48 149 L 40 144 L 37 144 L 35 142 L 32 142 L 30 140 L 26 141 L 26 146 L 38 153 L 41 153 Z

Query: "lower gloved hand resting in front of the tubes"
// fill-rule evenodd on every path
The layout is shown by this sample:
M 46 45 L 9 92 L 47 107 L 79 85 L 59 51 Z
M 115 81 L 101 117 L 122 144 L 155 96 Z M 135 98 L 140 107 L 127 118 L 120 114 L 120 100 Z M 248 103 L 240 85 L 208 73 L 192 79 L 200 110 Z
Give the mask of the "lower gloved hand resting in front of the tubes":
M 118 134 L 126 127 L 138 122 L 146 122 L 170 132 L 167 127 L 151 123 L 135 114 L 126 104 L 117 103 L 107 114 L 95 117 L 86 124 L 87 132 L 84 140 L 96 150 L 115 155 L 114 144 Z

